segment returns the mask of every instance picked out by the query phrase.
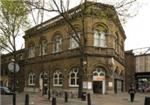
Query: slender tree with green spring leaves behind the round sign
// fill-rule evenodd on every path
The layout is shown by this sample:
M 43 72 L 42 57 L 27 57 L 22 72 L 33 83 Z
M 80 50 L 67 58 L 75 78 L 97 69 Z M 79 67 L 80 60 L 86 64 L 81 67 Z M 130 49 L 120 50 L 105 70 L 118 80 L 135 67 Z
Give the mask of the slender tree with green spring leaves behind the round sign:
M 28 10 L 24 4 L 14 0 L 0 0 L 0 51 L 12 53 L 14 63 L 16 63 L 16 38 L 27 26 Z M 14 66 L 13 89 L 16 91 Z M 14 101 L 15 102 L 15 101 Z

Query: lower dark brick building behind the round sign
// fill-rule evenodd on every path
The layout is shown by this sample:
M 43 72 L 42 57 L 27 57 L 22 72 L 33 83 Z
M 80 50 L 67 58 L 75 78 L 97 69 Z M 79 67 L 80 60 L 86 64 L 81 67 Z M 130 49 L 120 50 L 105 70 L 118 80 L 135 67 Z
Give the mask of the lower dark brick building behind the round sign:
M 11 89 L 13 89 L 13 73 L 9 71 L 8 64 L 12 62 L 12 59 L 13 53 L 1 55 L 0 85 Z M 20 67 L 20 70 L 16 73 L 16 90 L 20 92 L 24 88 L 24 49 L 16 51 L 16 60 Z

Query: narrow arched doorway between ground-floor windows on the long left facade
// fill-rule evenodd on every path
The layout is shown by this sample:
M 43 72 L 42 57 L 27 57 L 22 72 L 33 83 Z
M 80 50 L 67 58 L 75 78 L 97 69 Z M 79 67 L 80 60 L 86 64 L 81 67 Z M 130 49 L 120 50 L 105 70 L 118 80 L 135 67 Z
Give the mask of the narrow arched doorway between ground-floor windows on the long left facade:
M 42 94 L 47 94 L 48 89 L 48 74 L 47 72 L 41 72 L 39 75 L 39 89 Z

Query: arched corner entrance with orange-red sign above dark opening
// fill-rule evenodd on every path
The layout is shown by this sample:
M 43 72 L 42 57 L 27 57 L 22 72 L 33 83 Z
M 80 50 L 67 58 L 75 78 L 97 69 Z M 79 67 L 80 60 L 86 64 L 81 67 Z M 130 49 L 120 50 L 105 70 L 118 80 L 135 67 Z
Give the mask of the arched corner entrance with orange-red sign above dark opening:
M 96 67 L 93 71 L 93 93 L 106 93 L 105 74 L 105 70 L 102 67 Z

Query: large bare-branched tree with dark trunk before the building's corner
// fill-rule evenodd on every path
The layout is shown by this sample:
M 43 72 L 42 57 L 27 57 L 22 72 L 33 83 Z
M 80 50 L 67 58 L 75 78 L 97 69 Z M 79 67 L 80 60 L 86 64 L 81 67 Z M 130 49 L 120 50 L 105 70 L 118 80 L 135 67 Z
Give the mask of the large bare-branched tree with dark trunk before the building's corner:
M 73 2 L 73 1 L 72 1 Z M 78 30 L 74 27 L 71 19 L 73 18 L 74 14 L 72 15 L 70 12 L 71 8 L 71 1 L 70 0 L 28 0 L 26 3 L 34 9 L 44 10 L 47 12 L 56 12 L 60 17 L 64 19 L 64 21 L 68 24 L 69 28 L 73 30 L 75 35 L 71 35 L 72 38 L 78 43 L 79 51 L 80 51 L 80 69 L 79 69 L 79 88 L 78 88 L 78 97 L 81 98 L 83 92 L 83 75 L 84 75 L 84 64 L 83 62 L 86 60 L 85 56 L 85 45 L 86 45 L 86 34 L 85 34 L 85 20 L 84 16 L 86 14 L 87 8 L 92 7 L 93 3 L 88 4 L 87 0 L 78 1 L 78 6 L 74 9 L 79 9 L 78 17 L 81 20 L 81 35 L 78 34 Z M 117 9 L 117 13 L 120 18 L 124 21 L 127 17 L 131 17 L 135 14 L 130 12 L 129 8 L 132 9 L 134 4 L 137 3 L 137 0 L 101 0 L 102 3 L 111 4 L 115 6 Z M 43 3 L 46 3 L 43 5 Z

